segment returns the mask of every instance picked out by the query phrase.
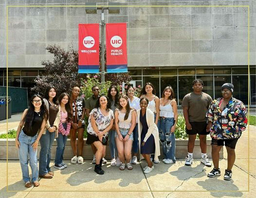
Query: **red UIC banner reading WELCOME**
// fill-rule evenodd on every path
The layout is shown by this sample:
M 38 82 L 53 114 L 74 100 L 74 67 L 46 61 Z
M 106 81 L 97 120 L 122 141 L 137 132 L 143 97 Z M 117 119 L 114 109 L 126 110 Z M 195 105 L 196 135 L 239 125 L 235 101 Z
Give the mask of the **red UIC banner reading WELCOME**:
M 78 24 L 78 73 L 99 73 L 99 24 Z

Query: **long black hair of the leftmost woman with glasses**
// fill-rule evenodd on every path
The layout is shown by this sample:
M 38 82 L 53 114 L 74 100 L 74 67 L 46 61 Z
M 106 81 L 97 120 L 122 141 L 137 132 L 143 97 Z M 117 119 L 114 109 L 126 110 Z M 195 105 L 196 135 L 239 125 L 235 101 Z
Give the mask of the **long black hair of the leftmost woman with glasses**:
M 30 107 L 29 107 L 26 115 L 23 118 L 23 121 L 25 121 L 24 128 L 26 129 L 27 132 L 32 131 L 32 122 L 34 119 L 34 111 L 35 111 L 35 106 L 33 104 L 33 100 L 36 97 L 40 98 L 41 102 L 42 102 L 42 104 L 40 106 L 40 115 L 42 115 L 42 117 L 46 120 L 48 119 L 48 116 L 49 116 L 46 106 L 44 104 L 43 98 L 38 94 L 33 95 L 30 99 Z

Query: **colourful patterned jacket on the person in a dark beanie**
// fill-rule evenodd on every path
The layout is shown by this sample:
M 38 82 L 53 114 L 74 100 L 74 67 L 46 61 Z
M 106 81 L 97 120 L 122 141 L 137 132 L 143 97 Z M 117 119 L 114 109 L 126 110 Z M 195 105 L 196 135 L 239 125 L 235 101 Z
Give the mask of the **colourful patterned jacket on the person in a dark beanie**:
M 213 123 L 210 135 L 213 139 L 239 138 L 247 125 L 246 108 L 243 102 L 231 98 L 221 111 L 219 107 L 222 99 L 213 100 L 207 111 L 206 117 Z

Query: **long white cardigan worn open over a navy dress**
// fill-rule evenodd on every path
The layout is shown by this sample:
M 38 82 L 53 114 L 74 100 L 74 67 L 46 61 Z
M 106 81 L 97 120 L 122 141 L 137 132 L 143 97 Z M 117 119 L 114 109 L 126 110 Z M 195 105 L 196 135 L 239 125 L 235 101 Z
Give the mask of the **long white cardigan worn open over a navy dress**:
M 142 124 L 140 122 L 140 112 L 141 110 L 137 110 L 137 117 L 138 117 L 138 132 L 139 132 L 139 148 L 141 145 L 141 132 L 142 132 Z M 148 137 L 153 134 L 154 139 L 155 139 L 155 159 L 154 160 L 158 160 L 158 156 L 160 155 L 160 143 L 159 143 L 159 133 L 158 133 L 158 128 L 155 124 L 154 121 L 154 113 L 146 108 L 146 123 L 148 126 L 148 130 L 146 133 L 146 136 L 143 140 L 143 142 L 146 142 L 146 140 L 148 139 Z M 144 157 L 142 156 L 142 154 L 140 154 L 140 160 L 142 160 Z

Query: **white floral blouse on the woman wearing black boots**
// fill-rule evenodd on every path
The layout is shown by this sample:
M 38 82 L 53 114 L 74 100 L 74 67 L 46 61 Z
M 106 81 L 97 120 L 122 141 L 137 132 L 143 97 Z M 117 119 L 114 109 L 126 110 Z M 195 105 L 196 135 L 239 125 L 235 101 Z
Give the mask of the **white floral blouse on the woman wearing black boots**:
M 91 135 L 94 135 L 94 136 L 97 136 L 97 134 L 92 129 L 91 116 L 94 117 L 94 119 L 96 121 L 97 128 L 101 132 L 104 131 L 110 125 L 111 119 L 114 119 L 114 113 L 111 109 L 109 111 L 108 116 L 104 116 L 101 113 L 99 108 L 92 109 L 91 113 L 90 113 L 90 117 L 89 117 L 89 124 L 88 124 L 88 127 L 87 127 L 87 132 L 90 133 Z M 106 132 L 103 136 L 106 138 L 108 136 L 108 132 Z

